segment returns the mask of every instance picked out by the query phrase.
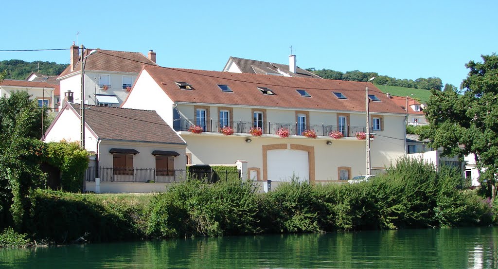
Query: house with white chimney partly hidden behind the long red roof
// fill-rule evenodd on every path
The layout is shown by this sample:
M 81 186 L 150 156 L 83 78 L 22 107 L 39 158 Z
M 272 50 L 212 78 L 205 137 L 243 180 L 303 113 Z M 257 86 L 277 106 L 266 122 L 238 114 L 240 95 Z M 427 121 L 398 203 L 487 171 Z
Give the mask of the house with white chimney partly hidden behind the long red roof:
M 232 73 L 322 79 L 321 77 L 305 69 L 299 68 L 296 62 L 296 55 L 289 55 L 288 65 L 230 56 L 225 64 L 225 67 L 223 68 L 223 71 Z

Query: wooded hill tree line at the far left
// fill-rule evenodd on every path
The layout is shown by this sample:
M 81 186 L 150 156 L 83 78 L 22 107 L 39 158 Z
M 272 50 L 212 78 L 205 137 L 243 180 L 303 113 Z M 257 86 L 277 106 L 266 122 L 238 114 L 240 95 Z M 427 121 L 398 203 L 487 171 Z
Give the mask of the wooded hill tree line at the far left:
M 0 71 L 6 70 L 4 79 L 25 80 L 31 72 L 38 72 L 47 76 L 57 76 L 62 73 L 66 67 L 67 64 L 58 64 L 56 62 L 26 62 L 23 60 L 0 61 Z

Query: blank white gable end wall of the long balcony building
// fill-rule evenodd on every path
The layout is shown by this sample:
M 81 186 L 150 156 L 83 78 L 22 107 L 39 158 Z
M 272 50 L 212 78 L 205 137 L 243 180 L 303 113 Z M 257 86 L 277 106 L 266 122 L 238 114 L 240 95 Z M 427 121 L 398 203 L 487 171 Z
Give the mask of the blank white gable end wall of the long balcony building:
M 152 79 L 149 73 L 142 71 L 138 77 L 128 99 L 122 108 L 155 110 L 157 114 L 169 125 L 173 126 L 173 101 Z M 193 109 L 192 109 L 193 110 Z

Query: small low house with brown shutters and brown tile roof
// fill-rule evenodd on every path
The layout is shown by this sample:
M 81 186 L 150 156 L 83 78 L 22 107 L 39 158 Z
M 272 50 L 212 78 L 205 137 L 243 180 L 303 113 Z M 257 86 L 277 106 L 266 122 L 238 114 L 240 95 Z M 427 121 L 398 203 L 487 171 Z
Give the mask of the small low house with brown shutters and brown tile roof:
M 42 139 L 80 140 L 80 115 L 79 104 L 65 102 Z M 164 191 L 186 177 L 186 143 L 155 111 L 85 106 L 85 130 L 86 191 Z

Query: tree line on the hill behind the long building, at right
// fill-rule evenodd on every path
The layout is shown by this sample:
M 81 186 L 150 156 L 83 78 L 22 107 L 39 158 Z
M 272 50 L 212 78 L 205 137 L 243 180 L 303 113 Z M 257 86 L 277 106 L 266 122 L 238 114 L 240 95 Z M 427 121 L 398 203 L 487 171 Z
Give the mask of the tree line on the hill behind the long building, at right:
M 373 84 L 399 86 L 405 88 L 425 89 L 425 90 L 441 90 L 443 81 L 440 78 L 418 78 L 412 79 L 397 79 L 389 76 L 379 76 L 376 72 L 361 72 L 358 70 L 348 71 L 346 73 L 322 69 L 316 70 L 315 68 L 307 68 L 307 71 L 313 72 L 315 75 L 324 79 L 347 80 L 347 81 L 361 81 L 366 82 L 370 78 L 375 77 Z

